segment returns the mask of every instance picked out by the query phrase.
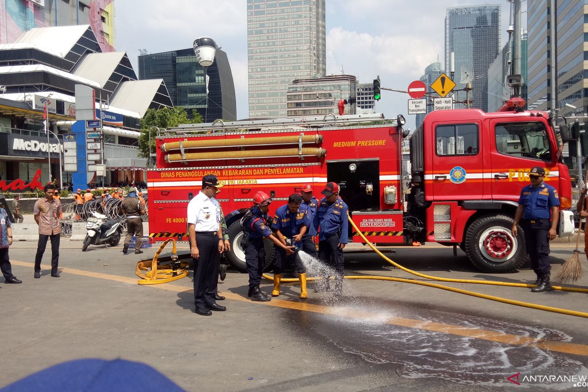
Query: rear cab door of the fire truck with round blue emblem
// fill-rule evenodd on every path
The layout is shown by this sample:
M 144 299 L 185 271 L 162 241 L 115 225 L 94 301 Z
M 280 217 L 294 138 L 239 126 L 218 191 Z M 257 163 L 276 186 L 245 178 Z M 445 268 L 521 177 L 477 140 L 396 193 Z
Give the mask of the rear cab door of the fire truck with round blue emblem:
M 479 121 L 433 123 L 433 148 L 425 173 L 429 200 L 483 199 L 485 152 Z

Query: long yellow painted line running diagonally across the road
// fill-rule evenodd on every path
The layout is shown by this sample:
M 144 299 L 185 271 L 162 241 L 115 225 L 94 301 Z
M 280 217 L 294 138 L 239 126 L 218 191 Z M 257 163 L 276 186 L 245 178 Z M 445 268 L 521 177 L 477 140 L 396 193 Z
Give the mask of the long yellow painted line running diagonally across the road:
M 26 262 L 19 262 L 15 260 L 11 260 L 12 264 L 17 266 L 23 267 L 34 267 L 34 263 L 26 263 Z M 125 277 L 125 276 L 118 276 L 118 275 L 111 275 L 105 274 L 100 272 L 89 272 L 83 271 L 73 268 L 60 268 L 62 273 L 72 274 L 72 275 L 79 275 L 79 276 L 86 276 L 86 277 L 93 277 L 98 279 L 105 279 L 111 280 L 114 282 L 122 282 L 122 283 L 130 283 L 130 284 L 137 284 L 137 278 Z M 137 284 L 137 286 L 139 286 Z M 171 292 L 181 293 L 181 292 L 191 292 L 191 287 L 186 286 L 178 286 L 176 284 L 153 284 L 150 286 L 141 286 L 141 287 L 153 287 L 155 289 L 160 290 L 167 290 Z M 222 295 L 225 296 L 227 299 L 235 300 L 235 301 L 242 301 L 251 303 L 251 300 L 243 297 L 239 294 L 235 293 L 228 293 L 222 292 Z M 332 314 L 333 316 L 343 316 L 349 319 L 363 319 L 363 320 L 373 320 L 376 316 L 374 313 L 370 313 L 369 311 L 358 311 L 358 310 L 342 310 L 339 307 L 329 307 L 323 306 L 318 304 L 312 304 L 304 301 L 286 301 L 286 300 L 276 300 L 272 299 L 269 302 L 256 302 L 256 305 L 265 305 L 265 306 L 274 306 L 280 307 L 284 309 L 292 309 L 292 310 L 299 310 L 299 311 L 312 311 L 313 313 L 320 313 L 320 314 Z M 560 353 L 566 354 L 574 354 L 578 356 L 588 357 L 588 346 L 584 344 L 576 344 L 576 343 L 567 343 L 565 341 L 555 341 L 555 340 L 547 340 L 547 339 L 534 339 L 533 337 L 528 336 L 519 336 L 514 334 L 505 334 L 496 331 L 487 331 L 477 328 L 468 328 L 463 326 L 457 326 L 453 324 L 443 324 L 443 323 L 435 323 L 433 321 L 423 321 L 423 320 L 415 320 L 415 319 L 407 319 L 406 317 L 391 317 L 390 319 L 385 321 L 386 324 L 390 324 L 393 326 L 400 326 L 400 327 L 407 327 L 413 329 L 420 329 L 432 332 L 440 332 L 446 334 L 452 334 L 455 336 L 463 336 L 463 337 L 472 337 L 474 339 L 480 340 L 487 340 L 487 341 L 495 341 L 497 343 L 505 343 L 510 344 L 512 346 L 529 346 L 529 347 L 537 347 L 542 350 L 550 350 L 550 351 L 557 351 Z

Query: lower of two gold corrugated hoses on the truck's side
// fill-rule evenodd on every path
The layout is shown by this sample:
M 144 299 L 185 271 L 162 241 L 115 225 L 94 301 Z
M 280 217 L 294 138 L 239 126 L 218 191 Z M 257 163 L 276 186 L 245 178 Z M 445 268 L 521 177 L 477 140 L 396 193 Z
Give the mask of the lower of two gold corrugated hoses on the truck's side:
M 165 162 L 186 162 L 191 160 L 215 160 L 215 159 L 247 159 L 247 158 L 277 158 L 296 156 L 316 156 L 324 158 L 327 150 L 319 147 L 283 148 L 272 150 L 249 151 L 215 151 L 215 152 L 189 152 L 185 154 L 169 154 L 165 156 Z

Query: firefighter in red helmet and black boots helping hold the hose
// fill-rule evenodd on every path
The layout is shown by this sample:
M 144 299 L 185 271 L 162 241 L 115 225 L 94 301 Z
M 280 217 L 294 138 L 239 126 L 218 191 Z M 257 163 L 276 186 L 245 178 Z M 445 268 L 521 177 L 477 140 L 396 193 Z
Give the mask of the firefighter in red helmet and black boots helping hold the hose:
M 259 289 L 259 283 L 263 274 L 265 264 L 265 248 L 263 239 L 270 239 L 276 246 L 285 249 L 286 254 L 294 253 L 293 246 L 285 246 L 270 230 L 272 219 L 268 216 L 271 197 L 265 192 L 257 192 L 253 195 L 253 207 L 243 216 L 241 226 L 243 228 L 243 239 L 241 247 L 245 252 L 245 264 L 249 273 L 249 292 L 247 296 L 252 301 L 266 302 L 272 298 Z

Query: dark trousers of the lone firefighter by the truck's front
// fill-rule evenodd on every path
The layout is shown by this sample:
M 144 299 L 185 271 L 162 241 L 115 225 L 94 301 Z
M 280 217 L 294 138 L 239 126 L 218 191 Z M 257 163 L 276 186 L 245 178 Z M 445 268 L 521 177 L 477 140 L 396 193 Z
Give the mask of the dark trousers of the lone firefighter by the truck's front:
M 531 267 L 536 274 L 546 274 L 551 271 L 549 263 L 549 219 L 537 219 L 535 223 L 523 220 L 524 242 L 531 259 Z

